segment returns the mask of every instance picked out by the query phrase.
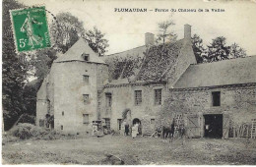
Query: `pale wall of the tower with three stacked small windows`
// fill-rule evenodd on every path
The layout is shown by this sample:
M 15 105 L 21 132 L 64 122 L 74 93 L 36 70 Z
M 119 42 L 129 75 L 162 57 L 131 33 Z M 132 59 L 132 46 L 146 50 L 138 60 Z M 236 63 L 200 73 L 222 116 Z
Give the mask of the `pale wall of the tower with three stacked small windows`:
M 105 82 L 106 65 L 86 62 L 55 63 L 54 71 L 54 124 L 55 129 L 66 133 L 87 133 L 92 121 L 97 120 L 97 86 Z M 89 84 L 83 81 L 89 76 Z M 98 77 L 99 76 L 99 77 Z M 83 94 L 89 94 L 89 103 Z M 64 116 L 62 115 L 64 112 Z M 83 115 L 89 114 L 89 123 L 83 123 Z

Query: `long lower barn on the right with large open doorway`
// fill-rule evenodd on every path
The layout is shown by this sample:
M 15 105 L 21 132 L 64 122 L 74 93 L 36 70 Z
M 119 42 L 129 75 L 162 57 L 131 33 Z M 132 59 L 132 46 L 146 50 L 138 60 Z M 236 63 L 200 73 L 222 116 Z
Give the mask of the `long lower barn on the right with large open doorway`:
M 256 56 L 190 65 L 169 88 L 163 113 L 181 114 L 191 138 L 226 139 L 256 115 Z

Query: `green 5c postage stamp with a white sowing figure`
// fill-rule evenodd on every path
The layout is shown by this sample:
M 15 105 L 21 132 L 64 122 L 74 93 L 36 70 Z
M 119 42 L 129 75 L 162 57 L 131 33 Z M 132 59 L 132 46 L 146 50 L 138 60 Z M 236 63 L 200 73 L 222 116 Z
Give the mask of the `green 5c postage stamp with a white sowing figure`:
M 50 47 L 45 7 L 11 10 L 17 51 Z

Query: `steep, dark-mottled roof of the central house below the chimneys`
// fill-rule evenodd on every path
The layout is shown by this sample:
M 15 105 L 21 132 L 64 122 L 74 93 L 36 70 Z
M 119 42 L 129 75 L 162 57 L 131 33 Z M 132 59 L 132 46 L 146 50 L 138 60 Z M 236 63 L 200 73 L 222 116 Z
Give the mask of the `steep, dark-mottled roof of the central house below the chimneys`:
M 105 58 L 109 65 L 109 77 L 112 80 L 126 78 L 130 83 L 165 81 L 164 73 L 174 64 L 182 45 L 183 39 L 165 43 L 164 46 L 153 45 L 148 50 L 146 46 L 141 46 L 109 55 Z

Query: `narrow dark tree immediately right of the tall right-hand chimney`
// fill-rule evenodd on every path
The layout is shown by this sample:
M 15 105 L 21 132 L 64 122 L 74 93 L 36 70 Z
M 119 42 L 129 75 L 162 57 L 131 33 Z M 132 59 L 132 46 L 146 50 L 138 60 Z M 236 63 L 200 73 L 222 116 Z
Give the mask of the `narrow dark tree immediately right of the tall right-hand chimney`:
M 191 39 L 197 63 L 203 63 L 206 61 L 206 49 L 203 45 L 203 39 L 198 34 L 194 34 Z

